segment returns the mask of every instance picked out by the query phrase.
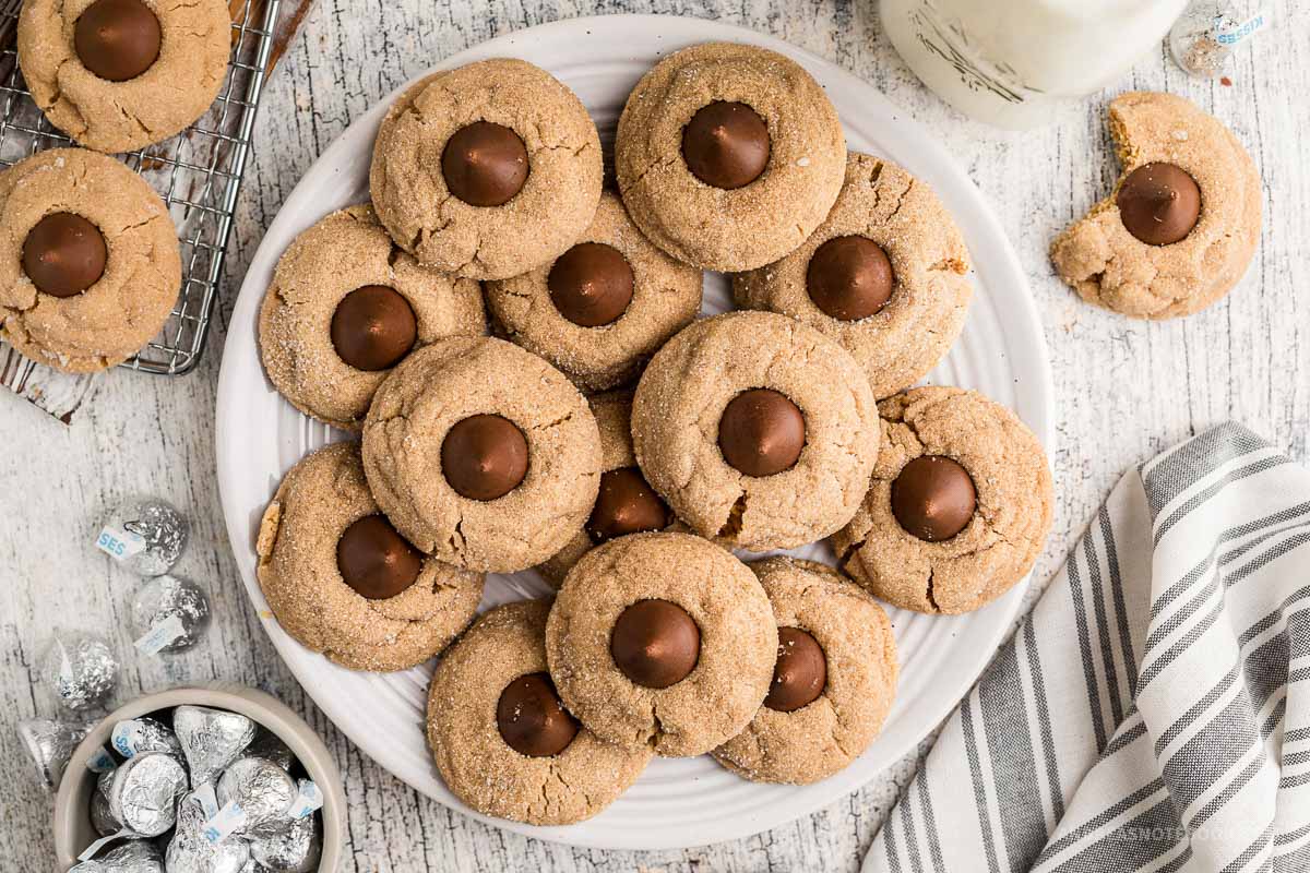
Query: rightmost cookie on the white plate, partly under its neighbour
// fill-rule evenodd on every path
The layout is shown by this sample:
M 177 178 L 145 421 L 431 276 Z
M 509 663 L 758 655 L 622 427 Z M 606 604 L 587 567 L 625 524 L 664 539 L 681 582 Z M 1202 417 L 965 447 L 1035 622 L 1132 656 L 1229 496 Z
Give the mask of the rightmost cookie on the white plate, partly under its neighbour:
M 958 387 L 913 389 L 879 411 L 869 493 L 832 537 L 840 567 L 918 613 L 968 613 L 1010 590 L 1051 530 L 1051 470 L 1036 436 Z

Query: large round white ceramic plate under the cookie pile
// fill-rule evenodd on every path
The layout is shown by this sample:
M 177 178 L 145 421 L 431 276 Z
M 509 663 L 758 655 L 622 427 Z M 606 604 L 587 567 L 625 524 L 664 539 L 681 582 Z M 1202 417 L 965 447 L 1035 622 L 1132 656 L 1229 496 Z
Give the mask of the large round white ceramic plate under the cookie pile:
M 977 293 L 964 335 L 930 381 L 984 391 L 1018 411 L 1048 442 L 1052 416 L 1045 344 L 1014 250 L 979 191 L 947 153 L 850 73 L 770 37 L 711 21 L 659 16 L 542 25 L 476 46 L 435 69 L 494 56 L 529 60 L 574 89 L 608 144 L 624 101 L 642 73 L 668 52 L 707 41 L 753 43 L 794 58 L 836 103 L 852 149 L 886 156 L 937 190 L 964 232 L 973 255 Z M 390 99 L 379 102 L 351 124 L 287 198 L 255 253 L 232 315 L 219 377 L 219 486 L 241 576 L 266 616 L 267 605 L 254 577 L 259 516 L 287 469 L 342 435 L 296 412 L 265 380 L 257 313 L 278 257 L 295 236 L 333 209 L 368 198 L 369 153 Z M 720 275 L 709 275 L 705 312 L 728 306 L 727 281 Z M 832 561 L 831 551 L 823 546 L 796 554 Z M 613 806 L 570 827 L 529 827 L 487 819 L 447 791 L 423 739 L 431 665 L 389 675 L 352 673 L 301 648 L 271 618 L 263 623 L 296 678 L 337 726 L 377 763 L 424 794 L 540 839 L 656 849 L 702 846 L 774 827 L 859 788 L 899 760 L 951 711 L 990 660 L 1019 606 L 1022 588 L 965 616 L 891 611 L 901 658 L 896 705 L 878 741 L 841 774 L 803 788 L 757 785 L 719 768 L 709 757 L 659 759 Z M 548 592 L 532 572 L 491 576 L 483 607 Z

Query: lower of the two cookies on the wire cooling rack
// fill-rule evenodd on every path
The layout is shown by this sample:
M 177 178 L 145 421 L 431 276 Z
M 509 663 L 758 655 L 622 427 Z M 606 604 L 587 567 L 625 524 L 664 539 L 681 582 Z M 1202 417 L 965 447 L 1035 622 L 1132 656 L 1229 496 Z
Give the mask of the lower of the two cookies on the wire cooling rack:
M 182 258 L 141 177 L 85 149 L 0 174 L 0 338 L 69 373 L 119 364 L 168 321 Z

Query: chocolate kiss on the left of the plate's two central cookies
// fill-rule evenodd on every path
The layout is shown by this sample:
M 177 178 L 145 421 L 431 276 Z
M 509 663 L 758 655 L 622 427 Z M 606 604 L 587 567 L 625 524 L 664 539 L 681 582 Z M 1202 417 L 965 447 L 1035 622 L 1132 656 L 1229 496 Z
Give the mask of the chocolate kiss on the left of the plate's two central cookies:
M 528 440 L 500 415 L 472 415 L 441 441 L 441 472 L 469 500 L 503 497 L 528 475 Z

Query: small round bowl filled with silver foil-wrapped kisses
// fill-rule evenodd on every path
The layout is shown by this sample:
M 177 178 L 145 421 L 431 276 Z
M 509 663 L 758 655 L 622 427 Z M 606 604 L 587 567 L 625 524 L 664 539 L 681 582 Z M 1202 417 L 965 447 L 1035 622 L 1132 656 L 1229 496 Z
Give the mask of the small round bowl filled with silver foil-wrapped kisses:
M 284 704 L 238 685 L 149 694 L 73 751 L 55 797 L 62 872 L 337 869 L 341 772 Z

